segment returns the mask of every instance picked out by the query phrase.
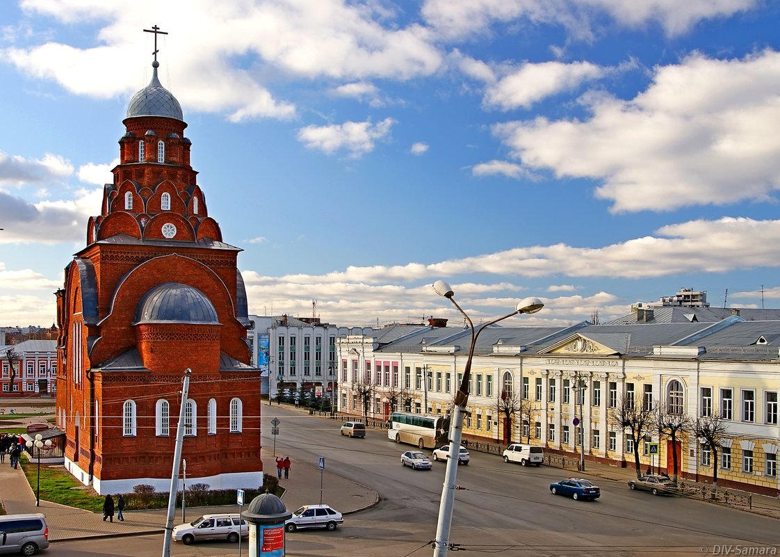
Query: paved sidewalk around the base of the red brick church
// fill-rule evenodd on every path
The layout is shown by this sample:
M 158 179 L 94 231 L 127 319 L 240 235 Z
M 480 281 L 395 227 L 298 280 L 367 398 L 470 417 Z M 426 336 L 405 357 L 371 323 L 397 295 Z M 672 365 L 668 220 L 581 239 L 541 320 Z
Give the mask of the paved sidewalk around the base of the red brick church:
M 279 483 L 286 488 L 282 501 L 287 509 L 294 511 L 301 505 L 320 502 L 320 470 L 317 467 L 293 461 L 295 474 L 289 480 Z M 30 464 L 27 464 L 30 466 Z M 275 469 L 274 469 L 275 470 Z M 35 506 L 35 494 L 20 468 L 14 470 L 8 459 L 0 466 L 0 502 L 8 514 L 44 513 L 49 527 L 50 541 L 76 540 L 89 537 L 111 537 L 115 535 L 149 534 L 165 530 L 167 509 L 128 511 L 125 521 L 103 522 L 101 513 L 75 509 L 69 506 L 41 500 Z M 344 514 L 356 513 L 378 502 L 379 496 L 371 489 L 335 474 L 324 471 L 323 502 L 339 509 Z M 246 504 L 249 502 L 247 501 Z M 246 504 L 243 509 L 246 510 Z M 239 506 L 197 507 L 185 509 L 186 521 L 207 513 L 238 513 Z M 182 509 L 176 509 L 174 525 L 183 523 Z

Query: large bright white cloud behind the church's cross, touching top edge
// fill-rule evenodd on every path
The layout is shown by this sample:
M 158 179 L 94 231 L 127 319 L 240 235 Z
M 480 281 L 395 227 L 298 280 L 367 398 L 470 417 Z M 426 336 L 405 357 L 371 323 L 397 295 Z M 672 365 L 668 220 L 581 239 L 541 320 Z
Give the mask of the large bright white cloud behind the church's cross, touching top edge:
M 265 83 L 280 73 L 303 79 L 408 80 L 430 76 L 443 62 L 427 28 L 392 22 L 383 27 L 381 20 L 391 12 L 341 0 L 191 0 L 186 16 L 175 2 L 154 0 L 137 0 L 132 10 L 103 0 L 28 0 L 23 8 L 71 26 L 103 25 L 96 46 L 47 42 L 2 51 L 28 75 L 96 98 L 131 94 L 149 82 L 148 66 L 144 78 L 127 69 L 139 68 L 139 52 L 151 48 L 151 34 L 139 30 L 148 27 L 143 14 L 154 12 L 169 33 L 160 39 L 165 87 L 185 113 L 221 112 L 233 122 L 296 114 L 295 106 L 276 99 Z M 214 24 L 215 13 L 219 25 Z M 237 59 L 248 63 L 239 66 Z

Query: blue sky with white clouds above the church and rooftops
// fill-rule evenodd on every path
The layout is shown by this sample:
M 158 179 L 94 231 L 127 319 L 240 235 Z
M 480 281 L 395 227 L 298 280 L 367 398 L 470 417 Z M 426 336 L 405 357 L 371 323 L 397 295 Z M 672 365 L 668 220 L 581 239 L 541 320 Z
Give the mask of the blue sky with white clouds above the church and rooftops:
M 780 307 L 780 2 L 6 0 L 0 326 L 56 321 L 159 74 L 250 314 Z M 183 9 L 186 7 L 186 9 Z M 316 301 L 316 303 L 314 303 Z

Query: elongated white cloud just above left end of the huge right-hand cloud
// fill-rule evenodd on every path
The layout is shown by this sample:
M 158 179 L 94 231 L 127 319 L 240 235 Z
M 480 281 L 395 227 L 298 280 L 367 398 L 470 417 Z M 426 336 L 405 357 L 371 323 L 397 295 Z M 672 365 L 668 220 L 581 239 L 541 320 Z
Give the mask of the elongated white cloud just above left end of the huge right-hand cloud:
M 489 86 L 483 104 L 501 110 L 529 108 L 537 101 L 564 90 L 576 89 L 582 83 L 595 80 L 604 73 L 604 69 L 590 62 L 523 64 Z

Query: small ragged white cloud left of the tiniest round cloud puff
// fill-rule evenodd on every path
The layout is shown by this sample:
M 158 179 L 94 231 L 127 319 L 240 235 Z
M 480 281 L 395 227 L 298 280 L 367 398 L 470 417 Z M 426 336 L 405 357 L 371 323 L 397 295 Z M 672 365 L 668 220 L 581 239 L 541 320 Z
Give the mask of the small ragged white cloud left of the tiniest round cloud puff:
M 374 151 L 374 144 L 390 135 L 395 123 L 385 118 L 372 125 L 371 122 L 344 122 L 330 126 L 306 126 L 298 132 L 298 140 L 310 149 L 327 154 L 346 150 L 350 157 L 357 158 Z

